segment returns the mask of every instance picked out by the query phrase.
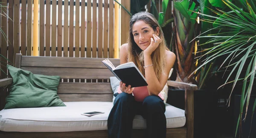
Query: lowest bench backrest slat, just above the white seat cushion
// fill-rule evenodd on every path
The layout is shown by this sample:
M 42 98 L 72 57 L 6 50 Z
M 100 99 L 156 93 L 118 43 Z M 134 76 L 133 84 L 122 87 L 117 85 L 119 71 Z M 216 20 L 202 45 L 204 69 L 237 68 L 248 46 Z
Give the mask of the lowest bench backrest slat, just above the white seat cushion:
M 58 94 L 64 102 L 74 101 L 109 101 L 113 99 L 113 94 Z

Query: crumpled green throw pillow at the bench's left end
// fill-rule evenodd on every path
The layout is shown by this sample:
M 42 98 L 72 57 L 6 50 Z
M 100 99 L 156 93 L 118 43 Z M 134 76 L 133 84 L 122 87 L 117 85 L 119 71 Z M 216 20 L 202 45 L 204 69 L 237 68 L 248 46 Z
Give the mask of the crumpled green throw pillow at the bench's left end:
M 66 106 L 57 95 L 60 76 L 37 75 L 7 65 L 13 84 L 5 109 Z

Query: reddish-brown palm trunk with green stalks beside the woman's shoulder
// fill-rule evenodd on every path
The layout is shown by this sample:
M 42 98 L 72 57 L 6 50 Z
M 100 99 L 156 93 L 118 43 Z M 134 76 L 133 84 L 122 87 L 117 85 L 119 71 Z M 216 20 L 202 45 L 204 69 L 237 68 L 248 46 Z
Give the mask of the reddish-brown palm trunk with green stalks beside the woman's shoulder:
M 193 82 L 189 75 L 194 71 L 194 48 L 195 39 L 199 33 L 198 17 L 199 5 L 192 0 L 175 0 L 174 1 L 174 48 L 177 57 L 176 72 L 177 81 L 190 83 Z M 195 11 L 195 12 L 192 12 Z M 193 40 L 192 43 L 189 43 Z

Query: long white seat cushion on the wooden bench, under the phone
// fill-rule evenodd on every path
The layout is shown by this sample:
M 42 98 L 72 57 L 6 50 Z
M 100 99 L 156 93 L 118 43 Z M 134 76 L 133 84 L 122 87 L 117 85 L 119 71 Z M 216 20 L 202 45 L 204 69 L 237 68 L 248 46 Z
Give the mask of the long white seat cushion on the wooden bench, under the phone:
M 67 132 L 107 130 L 112 102 L 64 102 L 67 106 L 3 109 L 0 111 L 0 130 L 15 132 Z M 91 117 L 83 112 L 100 111 Z M 166 104 L 167 128 L 182 127 L 186 123 L 184 110 Z M 146 128 L 142 116 L 136 115 L 134 129 Z

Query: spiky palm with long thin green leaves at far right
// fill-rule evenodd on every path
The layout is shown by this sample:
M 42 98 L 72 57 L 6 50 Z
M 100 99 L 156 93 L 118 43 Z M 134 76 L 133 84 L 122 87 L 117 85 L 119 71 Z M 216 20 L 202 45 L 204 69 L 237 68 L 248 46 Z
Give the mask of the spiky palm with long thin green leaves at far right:
M 208 31 L 218 30 L 218 33 L 202 36 L 204 33 L 208 32 L 206 31 L 196 37 L 209 39 L 207 42 L 201 44 L 202 47 L 208 43 L 213 43 L 214 46 L 205 48 L 201 51 L 203 54 L 199 58 L 206 58 L 204 58 L 201 66 L 195 69 L 195 71 L 211 63 L 213 60 L 225 56 L 219 69 L 222 69 L 223 67 L 225 69 L 224 73 L 229 70 L 230 72 L 222 86 L 228 83 L 232 84 L 232 90 L 230 92 L 231 96 L 236 84 L 239 81 L 242 81 L 243 83 L 241 90 L 240 114 L 236 127 L 238 129 L 239 124 L 241 126 L 243 120 L 242 113 L 244 106 L 246 108 L 244 120 L 247 116 L 247 109 L 249 102 L 251 102 L 250 95 L 256 73 L 256 5 L 255 2 L 253 2 L 254 0 L 237 0 L 239 6 L 242 6 L 242 9 L 240 9 L 234 3 L 230 2 L 230 0 L 222 1 L 229 7 L 230 11 L 212 10 L 212 12 L 217 14 L 216 17 L 201 13 L 201 15 L 205 17 L 215 18 L 214 20 L 205 18 L 203 21 L 212 23 L 213 28 Z M 233 74 L 235 75 L 235 78 L 230 80 L 231 75 Z M 230 97 L 228 100 L 230 102 Z M 254 101 L 253 104 L 253 113 L 255 107 L 256 101 Z

